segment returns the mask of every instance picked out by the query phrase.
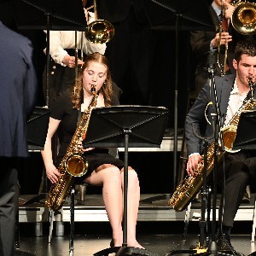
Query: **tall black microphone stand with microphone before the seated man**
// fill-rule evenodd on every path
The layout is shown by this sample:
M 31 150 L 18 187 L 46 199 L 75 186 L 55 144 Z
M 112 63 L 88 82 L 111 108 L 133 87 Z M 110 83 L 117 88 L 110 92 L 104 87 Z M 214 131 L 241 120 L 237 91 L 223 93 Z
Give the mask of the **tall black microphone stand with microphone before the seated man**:
M 212 98 L 212 90 L 213 90 L 213 98 L 215 102 L 215 113 L 212 114 L 212 130 L 214 134 L 214 163 L 213 163 L 213 185 L 212 185 L 212 191 L 213 191 L 213 198 L 212 198 L 212 241 L 209 245 L 209 250 L 211 251 L 211 255 L 217 255 L 218 254 L 218 246 L 216 243 L 216 201 L 217 201 L 217 168 L 218 168 L 218 150 L 224 151 L 224 143 L 223 143 L 223 134 L 220 131 L 221 123 L 220 123 L 220 117 L 221 113 L 218 106 L 218 96 L 217 96 L 217 90 L 216 90 L 216 84 L 214 79 L 214 73 L 215 73 L 215 51 L 210 50 L 207 56 L 207 62 L 208 67 L 207 71 L 209 73 L 209 91 L 210 91 L 210 98 Z M 212 107 L 213 108 L 213 107 Z M 215 120 L 213 118 L 213 115 L 215 115 Z M 220 148 L 219 148 L 220 143 Z M 224 187 L 223 187 L 224 188 Z M 224 189 L 222 193 L 221 198 L 221 204 L 222 207 L 224 206 Z M 222 209 L 219 209 L 218 214 L 218 221 L 220 224 L 220 228 L 222 229 Z

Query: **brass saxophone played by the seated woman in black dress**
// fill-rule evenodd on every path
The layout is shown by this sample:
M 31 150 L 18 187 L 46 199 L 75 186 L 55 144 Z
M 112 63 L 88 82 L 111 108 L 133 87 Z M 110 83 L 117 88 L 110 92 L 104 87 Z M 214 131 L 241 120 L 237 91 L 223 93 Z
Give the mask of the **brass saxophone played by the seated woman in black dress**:
M 49 197 L 45 201 L 45 205 L 52 210 L 59 210 L 66 201 L 67 194 L 69 193 L 75 177 L 83 176 L 88 170 L 88 162 L 84 158 L 82 148 L 79 148 L 79 139 L 86 134 L 91 108 L 96 107 L 97 93 L 95 86 L 91 88 L 93 93 L 92 101 L 89 108 L 84 111 L 79 120 L 77 129 L 73 135 L 71 143 L 69 143 L 67 152 L 61 160 L 58 167 L 60 176 L 57 183 L 52 184 L 49 189 Z

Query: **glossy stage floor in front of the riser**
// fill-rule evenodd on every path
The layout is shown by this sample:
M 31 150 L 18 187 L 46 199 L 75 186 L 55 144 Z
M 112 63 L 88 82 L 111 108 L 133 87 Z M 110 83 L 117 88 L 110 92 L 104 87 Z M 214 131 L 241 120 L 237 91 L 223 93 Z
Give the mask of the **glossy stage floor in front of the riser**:
M 26 224 L 27 225 L 27 224 Z M 187 236 L 187 240 L 183 242 L 183 228 L 182 224 L 177 223 L 158 224 L 156 228 L 154 224 L 147 223 L 137 224 L 137 240 L 149 252 L 158 253 L 159 255 L 166 255 L 173 250 L 189 250 L 189 247 L 196 245 L 199 241 L 199 227 L 196 225 L 192 234 Z M 255 243 L 251 242 L 250 236 L 242 234 L 246 224 L 242 224 L 241 235 L 232 234 L 231 242 L 233 247 L 240 253 L 248 255 L 255 252 Z M 25 228 L 25 227 L 24 227 Z M 97 224 L 94 232 L 91 224 L 79 223 L 79 230 L 83 229 L 84 233 L 74 236 L 73 255 L 75 256 L 91 256 L 102 249 L 109 247 L 111 240 L 110 231 L 106 223 Z M 78 232 L 78 227 L 75 227 Z M 87 231 L 86 231 L 87 230 Z M 192 228 L 191 228 L 192 230 Z M 93 233 L 93 234 L 91 234 Z M 97 234 L 96 234 L 97 233 Z M 45 234 L 41 237 L 32 235 L 20 235 L 20 250 L 22 252 L 30 253 L 37 256 L 61 256 L 69 255 L 69 236 L 53 236 L 51 243 L 48 243 L 48 236 Z M 188 253 L 178 253 L 180 255 L 189 255 Z M 20 253 L 17 255 L 20 255 Z M 22 254 L 21 254 L 22 255 Z M 114 255 L 114 254 L 110 254 Z M 25 255 L 24 255 L 25 256 Z

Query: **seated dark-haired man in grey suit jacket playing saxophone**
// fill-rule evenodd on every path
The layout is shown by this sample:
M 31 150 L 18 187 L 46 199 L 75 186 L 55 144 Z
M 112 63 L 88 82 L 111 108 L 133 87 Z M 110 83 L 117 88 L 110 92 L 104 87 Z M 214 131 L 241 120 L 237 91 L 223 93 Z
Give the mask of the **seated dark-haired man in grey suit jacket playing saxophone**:
M 244 100 L 251 96 L 249 80 L 253 82 L 255 87 L 255 40 L 245 40 L 236 44 L 233 66 L 236 69 L 236 75 L 230 74 L 224 77 L 215 77 L 218 106 L 221 116 L 224 117 L 220 120 L 221 126 L 228 125 L 230 119 L 236 116 L 238 108 L 244 106 Z M 201 137 L 212 137 L 213 134 L 212 125 L 207 123 L 205 117 L 206 109 L 208 119 L 212 118 L 212 113 L 216 113 L 212 109 L 215 108 L 212 87 L 210 88 L 209 84 L 204 86 L 186 117 L 185 133 L 189 155 L 187 172 L 189 175 L 194 175 L 193 171 L 198 165 L 199 160 L 201 160 L 203 149 L 201 139 L 195 137 L 192 125 L 194 125 L 195 132 Z M 255 92 L 253 93 L 255 97 Z M 212 108 L 207 108 L 209 102 L 213 102 Z M 255 152 L 241 150 L 236 154 L 229 154 L 224 160 L 224 165 L 218 166 L 217 180 L 219 184 L 222 184 L 223 168 L 225 173 L 223 226 L 219 227 L 218 231 L 218 251 L 231 251 L 234 255 L 243 255 L 242 253 L 237 253 L 231 246 L 230 229 L 233 227 L 237 209 L 241 204 L 242 196 L 248 183 L 248 177 L 250 174 L 255 175 L 256 173 L 255 154 Z

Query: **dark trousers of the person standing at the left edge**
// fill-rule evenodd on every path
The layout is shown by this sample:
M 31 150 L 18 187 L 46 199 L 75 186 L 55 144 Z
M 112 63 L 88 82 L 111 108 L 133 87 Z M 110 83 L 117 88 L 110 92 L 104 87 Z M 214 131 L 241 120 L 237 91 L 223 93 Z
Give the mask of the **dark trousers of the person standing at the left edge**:
M 12 256 L 15 250 L 15 192 L 18 172 L 17 160 L 0 157 L 0 255 Z

